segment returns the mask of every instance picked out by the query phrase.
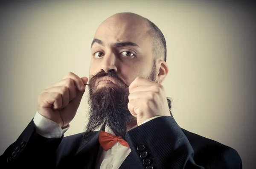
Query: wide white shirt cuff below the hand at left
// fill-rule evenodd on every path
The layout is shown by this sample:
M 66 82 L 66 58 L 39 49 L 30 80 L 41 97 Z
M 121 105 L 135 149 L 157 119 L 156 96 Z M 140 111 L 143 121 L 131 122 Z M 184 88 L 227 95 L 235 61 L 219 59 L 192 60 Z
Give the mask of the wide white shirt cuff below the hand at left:
M 61 138 L 61 136 L 70 128 L 70 125 L 68 124 L 67 127 L 61 129 L 57 123 L 45 118 L 38 112 L 36 112 L 33 121 L 35 124 L 35 131 L 45 138 Z

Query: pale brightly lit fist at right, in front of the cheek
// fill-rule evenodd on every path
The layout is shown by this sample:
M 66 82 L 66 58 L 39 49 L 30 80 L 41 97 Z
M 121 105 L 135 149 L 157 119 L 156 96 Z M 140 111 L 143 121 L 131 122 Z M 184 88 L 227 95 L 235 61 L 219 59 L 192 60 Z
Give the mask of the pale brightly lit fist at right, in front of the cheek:
M 158 115 L 171 116 L 162 85 L 137 77 L 129 86 L 129 92 L 128 110 L 137 118 L 138 126 Z

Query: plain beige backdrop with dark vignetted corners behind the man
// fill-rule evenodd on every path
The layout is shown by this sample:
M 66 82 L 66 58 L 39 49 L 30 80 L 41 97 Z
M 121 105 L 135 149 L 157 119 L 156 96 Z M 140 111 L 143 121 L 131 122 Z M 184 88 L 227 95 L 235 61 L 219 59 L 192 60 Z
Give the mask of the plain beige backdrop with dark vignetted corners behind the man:
M 47 85 L 67 72 L 88 76 L 98 25 L 130 11 L 166 37 L 164 82 L 180 127 L 235 148 L 255 164 L 255 19 L 250 5 L 208 1 L 41 1 L 0 7 L 0 154 L 36 112 Z M 253 31 L 254 30 L 254 31 Z M 86 94 L 85 94 L 86 95 Z M 82 132 L 87 98 L 65 135 Z

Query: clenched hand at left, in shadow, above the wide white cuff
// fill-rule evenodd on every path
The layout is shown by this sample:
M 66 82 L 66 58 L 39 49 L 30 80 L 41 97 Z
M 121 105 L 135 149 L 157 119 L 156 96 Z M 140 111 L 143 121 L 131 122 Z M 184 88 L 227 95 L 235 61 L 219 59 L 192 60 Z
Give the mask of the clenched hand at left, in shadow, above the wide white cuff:
M 67 126 L 76 115 L 87 82 L 87 77 L 80 78 L 72 72 L 67 73 L 61 81 L 41 92 L 38 97 L 38 113 L 60 127 Z

